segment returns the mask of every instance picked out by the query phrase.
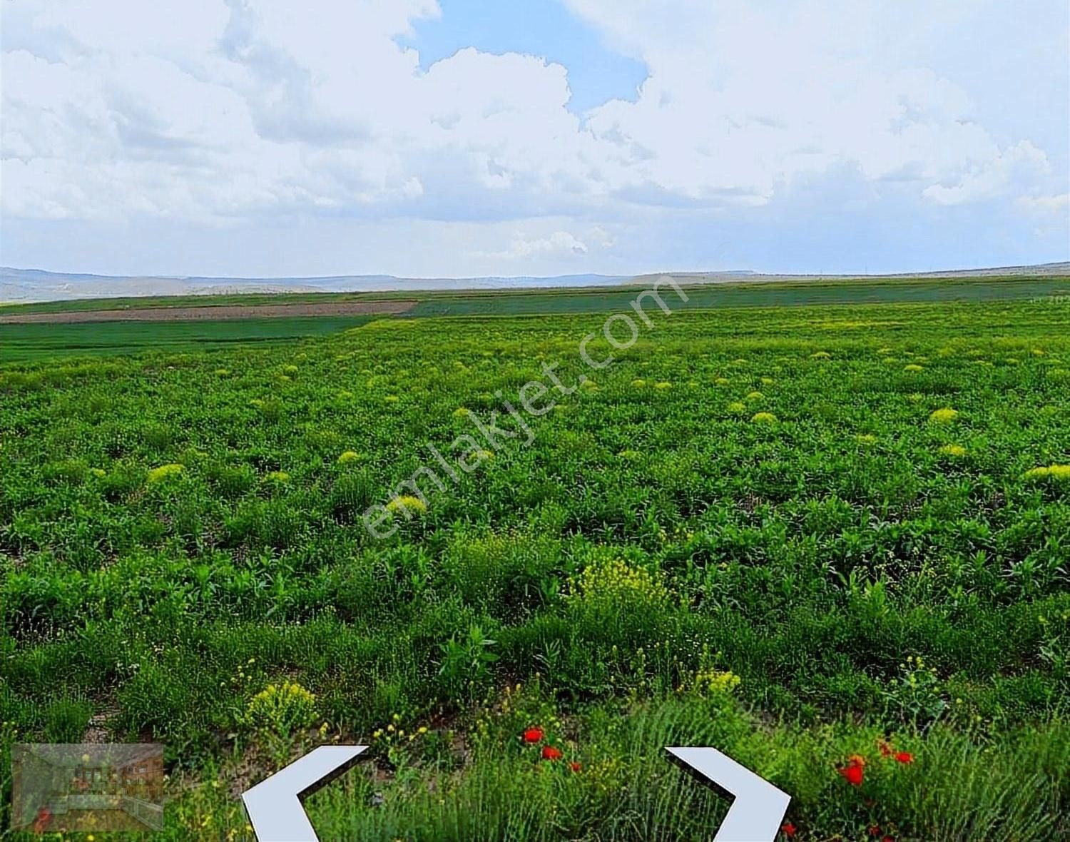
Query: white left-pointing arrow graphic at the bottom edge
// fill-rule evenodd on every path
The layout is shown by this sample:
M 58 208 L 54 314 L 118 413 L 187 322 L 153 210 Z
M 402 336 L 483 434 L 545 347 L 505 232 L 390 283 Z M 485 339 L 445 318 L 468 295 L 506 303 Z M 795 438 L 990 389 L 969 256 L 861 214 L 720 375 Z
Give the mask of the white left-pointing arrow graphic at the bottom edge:
M 366 748 L 320 746 L 242 793 L 257 839 L 260 842 L 319 842 L 301 799 L 349 769 Z

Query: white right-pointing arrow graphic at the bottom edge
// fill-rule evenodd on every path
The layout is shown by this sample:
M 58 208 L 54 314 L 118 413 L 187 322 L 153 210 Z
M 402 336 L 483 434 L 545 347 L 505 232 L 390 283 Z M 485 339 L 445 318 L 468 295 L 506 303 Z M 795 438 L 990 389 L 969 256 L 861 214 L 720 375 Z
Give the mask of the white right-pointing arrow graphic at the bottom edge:
M 792 800 L 764 778 L 717 749 L 667 748 L 687 771 L 735 796 L 714 842 L 773 842 Z

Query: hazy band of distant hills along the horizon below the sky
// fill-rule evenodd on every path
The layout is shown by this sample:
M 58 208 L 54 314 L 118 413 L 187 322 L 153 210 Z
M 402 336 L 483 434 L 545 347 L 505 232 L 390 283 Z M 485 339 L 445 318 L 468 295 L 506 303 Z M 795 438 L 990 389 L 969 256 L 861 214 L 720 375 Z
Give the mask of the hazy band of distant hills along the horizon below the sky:
M 730 284 L 763 280 L 835 280 L 861 275 L 766 275 L 749 270 L 716 272 L 667 272 L 648 275 L 555 275 L 535 277 L 406 278 L 394 275 L 328 275 L 322 277 L 223 278 L 152 275 L 90 275 L 48 272 L 39 269 L 0 267 L 0 304 L 70 301 L 76 298 L 141 297 L 149 295 L 220 295 L 281 292 L 382 292 L 555 287 L 609 287 L 651 284 L 668 275 L 682 284 Z M 1070 262 L 1031 266 L 918 272 L 875 277 L 991 277 L 1070 276 Z

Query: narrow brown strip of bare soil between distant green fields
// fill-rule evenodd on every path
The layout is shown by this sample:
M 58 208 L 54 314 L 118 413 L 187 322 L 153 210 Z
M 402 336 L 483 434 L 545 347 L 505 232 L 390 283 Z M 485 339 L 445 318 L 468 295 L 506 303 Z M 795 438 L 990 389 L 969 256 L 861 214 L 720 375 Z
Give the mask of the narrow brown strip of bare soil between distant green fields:
M 28 312 L 0 316 L 0 324 L 74 324 L 76 322 L 200 322 L 238 319 L 287 319 L 302 316 L 367 316 L 404 312 L 414 301 L 338 302 L 334 304 L 253 304 L 218 307 L 131 307 L 121 310 Z

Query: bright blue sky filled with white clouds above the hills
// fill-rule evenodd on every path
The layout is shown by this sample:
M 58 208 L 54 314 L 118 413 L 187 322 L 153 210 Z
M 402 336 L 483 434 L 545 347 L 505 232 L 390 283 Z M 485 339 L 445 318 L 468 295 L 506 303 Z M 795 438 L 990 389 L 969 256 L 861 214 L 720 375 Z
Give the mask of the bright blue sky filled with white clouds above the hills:
M 1070 260 L 1065 0 L 0 0 L 0 263 Z

